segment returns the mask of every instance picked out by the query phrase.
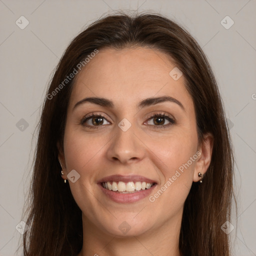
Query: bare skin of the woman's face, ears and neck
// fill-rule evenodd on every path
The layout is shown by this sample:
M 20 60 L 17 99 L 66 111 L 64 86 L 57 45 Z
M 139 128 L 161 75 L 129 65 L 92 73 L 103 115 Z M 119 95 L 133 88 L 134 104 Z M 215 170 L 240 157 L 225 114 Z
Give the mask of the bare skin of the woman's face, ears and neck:
M 184 77 L 175 81 L 169 75 L 174 67 L 170 58 L 156 49 L 105 48 L 77 74 L 59 160 L 63 179 L 72 169 L 80 174 L 74 183 L 67 179 L 82 211 L 83 247 L 78 256 L 180 255 L 183 204 L 192 182 L 200 179 L 198 172 L 205 173 L 209 166 L 213 139 L 205 134 L 198 145 L 193 101 Z M 169 101 L 136 108 L 142 99 L 164 95 L 179 100 L 184 110 Z M 114 107 L 86 102 L 73 110 L 76 102 L 89 96 L 110 99 Z M 80 124 L 92 112 L 105 118 L 102 124 L 94 123 L 95 129 Z M 157 118 L 150 114 L 157 112 L 174 117 L 176 123 L 158 128 L 170 122 L 154 122 Z M 126 131 L 118 126 L 123 118 L 131 123 Z M 92 119 L 84 124 L 93 126 Z M 153 195 L 197 151 L 200 156 L 153 202 L 146 196 L 133 203 L 117 203 L 96 184 L 112 174 L 139 174 L 157 182 Z M 125 234 L 118 228 L 123 221 L 130 226 Z

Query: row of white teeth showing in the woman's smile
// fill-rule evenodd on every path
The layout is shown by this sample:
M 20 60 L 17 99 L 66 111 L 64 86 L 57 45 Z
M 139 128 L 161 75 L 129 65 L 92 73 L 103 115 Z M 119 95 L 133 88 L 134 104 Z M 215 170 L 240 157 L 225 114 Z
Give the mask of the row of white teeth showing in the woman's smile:
M 119 192 L 119 193 L 134 193 L 139 192 L 145 189 L 149 189 L 154 186 L 156 183 L 147 183 L 145 181 L 140 182 L 133 181 L 123 182 L 123 181 L 107 181 L 100 182 L 101 186 L 107 190 Z

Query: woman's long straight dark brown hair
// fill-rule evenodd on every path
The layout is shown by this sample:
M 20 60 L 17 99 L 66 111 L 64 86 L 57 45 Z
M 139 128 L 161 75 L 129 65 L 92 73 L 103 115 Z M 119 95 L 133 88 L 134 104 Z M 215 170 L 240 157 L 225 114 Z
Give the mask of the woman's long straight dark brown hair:
M 67 104 L 77 69 L 87 55 L 103 47 L 146 46 L 161 50 L 182 71 L 195 107 L 199 142 L 214 137 L 203 183 L 194 183 L 184 203 L 179 249 L 186 256 L 228 256 L 229 238 L 221 225 L 230 219 L 233 152 L 224 109 L 206 56 L 193 37 L 161 14 L 116 12 L 80 32 L 62 55 L 43 102 L 23 235 L 25 256 L 77 255 L 82 247 L 81 210 L 60 177 L 57 142 L 63 148 Z M 86 68 L 86 67 L 85 67 Z M 56 90 L 59 87 L 61 89 Z M 55 93 L 53 92 L 55 91 Z

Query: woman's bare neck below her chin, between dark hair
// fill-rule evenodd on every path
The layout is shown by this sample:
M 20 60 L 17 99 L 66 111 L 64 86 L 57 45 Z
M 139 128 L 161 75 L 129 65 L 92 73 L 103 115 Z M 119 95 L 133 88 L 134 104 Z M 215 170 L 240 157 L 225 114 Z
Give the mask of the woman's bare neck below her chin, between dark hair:
M 143 234 L 115 236 L 98 229 L 82 214 L 83 246 L 77 256 L 180 256 L 181 216 Z

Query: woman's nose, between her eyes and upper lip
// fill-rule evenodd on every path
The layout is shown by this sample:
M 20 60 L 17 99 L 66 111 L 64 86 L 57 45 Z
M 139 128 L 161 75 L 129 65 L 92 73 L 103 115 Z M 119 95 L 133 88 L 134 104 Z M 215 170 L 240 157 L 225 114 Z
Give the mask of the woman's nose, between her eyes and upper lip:
M 111 139 L 107 149 L 107 158 L 111 161 L 119 161 L 129 164 L 140 161 L 145 154 L 145 144 L 139 138 L 139 131 L 135 131 L 133 125 L 127 130 L 116 125 L 115 135 Z

